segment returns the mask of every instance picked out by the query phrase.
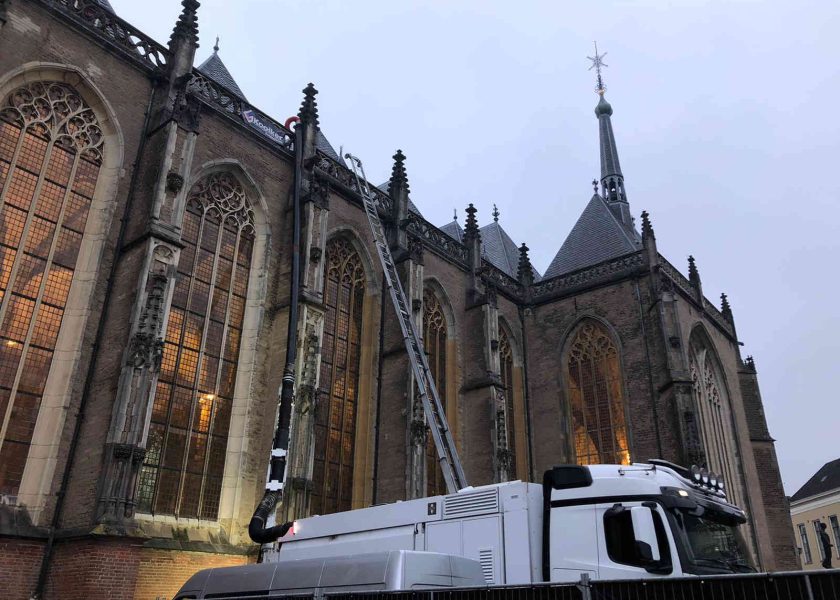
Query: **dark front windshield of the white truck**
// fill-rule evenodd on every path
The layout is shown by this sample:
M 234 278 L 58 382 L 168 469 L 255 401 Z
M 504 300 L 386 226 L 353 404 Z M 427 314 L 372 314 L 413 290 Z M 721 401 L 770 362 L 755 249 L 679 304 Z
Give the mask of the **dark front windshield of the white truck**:
M 738 525 L 725 518 L 716 518 L 711 511 L 702 515 L 675 510 L 677 522 L 684 533 L 685 550 L 690 563 L 706 571 L 753 572 L 747 545 Z

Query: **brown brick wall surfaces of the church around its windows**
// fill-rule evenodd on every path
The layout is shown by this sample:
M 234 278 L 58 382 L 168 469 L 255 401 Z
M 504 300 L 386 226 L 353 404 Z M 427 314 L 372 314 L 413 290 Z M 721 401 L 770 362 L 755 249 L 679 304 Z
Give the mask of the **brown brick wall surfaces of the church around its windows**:
M 251 134 L 235 117 L 203 107 L 198 135 L 187 173 L 195 175 L 214 164 L 225 163 L 252 184 L 252 198 L 266 240 L 263 272 L 259 273 L 259 310 L 256 317 L 255 358 L 249 383 L 247 410 L 243 410 L 243 437 L 237 440 L 242 455 L 238 464 L 228 465 L 233 488 L 229 511 L 218 522 L 169 522 L 146 518 L 131 527 L 103 528 L 96 520 L 96 502 L 103 469 L 103 448 L 111 423 L 112 408 L 123 367 L 123 352 L 140 290 L 144 268 L 145 238 L 149 234 L 154 188 L 160 180 L 166 155 L 165 131 L 150 132 L 142 156 L 136 156 L 143 137 L 142 127 L 155 85 L 151 71 L 129 60 L 126 54 L 104 42 L 99 34 L 88 33 L 79 24 L 47 10 L 40 1 L 11 0 L 8 20 L 0 29 L 0 81 L 16 69 L 34 63 L 56 63 L 77 68 L 90 89 L 110 107 L 120 132 L 122 164 L 116 175 L 114 212 L 109 223 L 99 272 L 91 300 L 91 314 L 84 327 L 81 355 L 67 399 L 67 419 L 58 442 L 56 469 L 47 482 L 44 510 L 33 526 L 21 507 L 12 519 L 0 518 L 0 589 L 9 597 L 27 598 L 34 589 L 47 527 L 53 517 L 68 449 L 82 403 L 79 444 L 70 467 L 63 518 L 47 584 L 47 597 L 82 598 L 171 598 L 177 587 L 196 570 L 210 566 L 242 564 L 254 559 L 254 548 L 244 534 L 247 521 L 261 494 L 265 461 L 271 445 L 276 410 L 276 393 L 284 364 L 289 295 L 290 246 L 289 197 L 293 180 L 290 157 L 262 138 Z M 292 85 L 292 83 L 290 83 Z M 298 84 L 294 84 L 298 85 Z M 154 120 L 154 119 L 152 119 Z M 179 129 L 176 150 L 185 156 L 186 133 Z M 176 158 L 178 158 L 176 157 Z M 180 158 L 178 158 L 180 160 Z M 135 173 L 136 170 L 136 173 Z M 131 183 L 134 188 L 131 189 Z M 192 183 L 187 177 L 185 185 Z M 356 239 L 366 250 L 370 270 L 366 314 L 373 315 L 370 327 L 372 347 L 366 354 L 370 373 L 370 431 L 378 436 L 366 446 L 372 468 L 354 477 L 364 479 L 365 497 L 394 501 L 407 492 L 407 363 L 401 354 L 401 340 L 386 299 L 385 323 L 379 323 L 381 276 L 367 222 L 353 194 L 337 183 L 329 197 L 328 232 Z M 126 213 L 129 199 L 133 205 Z M 170 215 L 171 207 L 164 211 Z M 169 211 L 169 212 L 167 212 Z M 167 216 L 167 218 L 169 218 Z M 172 217 L 175 219 L 175 217 Z M 121 220 L 127 229 L 121 248 L 117 239 Z M 655 248 L 654 248 L 655 255 Z M 116 262 L 112 292 L 106 299 L 109 274 Z M 450 414 L 456 443 L 462 454 L 470 483 L 493 479 L 492 422 L 486 381 L 485 323 L 482 306 L 471 304 L 471 275 L 463 265 L 427 248 L 423 253 L 423 278 L 443 290 L 441 301 L 451 315 L 450 327 L 456 340 L 449 357 L 455 382 Z M 682 459 L 679 429 L 674 410 L 676 379 L 674 356 L 687 351 L 689 336 L 698 326 L 708 334 L 723 365 L 728 392 L 736 407 L 738 447 L 745 471 L 746 487 L 753 509 L 758 539 L 766 548 L 766 568 L 796 568 L 790 519 L 781 488 L 778 463 L 764 419 L 757 375 L 741 361 L 737 341 L 718 327 L 708 314 L 685 294 L 677 293 L 676 339 L 666 332 L 659 312 L 662 290 L 656 265 L 647 259 L 644 267 L 630 275 L 598 280 L 573 293 L 558 295 L 541 303 L 498 295 L 498 313 L 519 340 L 521 355 L 527 357 L 524 391 L 527 415 L 530 478 L 539 480 L 542 471 L 554 464 L 573 460 L 568 431 L 563 377 L 563 352 L 570 332 L 583 318 L 603 323 L 613 334 L 621 352 L 630 440 L 634 460 L 662 457 Z M 107 300 L 107 305 L 106 305 Z M 99 351 L 92 356 L 100 320 L 104 319 Z M 379 328 L 385 328 L 379 347 Z M 669 330 L 670 331 L 670 330 Z M 379 361 L 382 360 L 382 372 Z M 93 378 L 87 372 L 94 360 Z M 485 386 L 485 387 L 482 387 Z M 379 414 L 376 414 L 378 407 Z M 654 418 L 655 416 L 655 418 Z M 378 419 L 377 419 L 378 417 Z M 374 424 L 378 423 L 378 429 Z M 232 443 L 232 442 L 231 442 Z M 361 451 L 357 448 L 357 451 Z M 358 463 L 357 463 L 358 464 Z M 367 463 L 366 463 L 367 464 Z M 526 463 L 528 464 L 528 463 Z M 373 473 L 376 473 L 374 479 Z M 520 473 L 520 477 L 526 474 Z M 24 525 L 20 525 L 23 523 Z M 37 527 L 36 527 L 37 526 Z M 184 533 L 186 532 L 186 533 Z M 129 534 L 132 537 L 129 537 Z M 184 542 L 184 540 L 187 542 Z

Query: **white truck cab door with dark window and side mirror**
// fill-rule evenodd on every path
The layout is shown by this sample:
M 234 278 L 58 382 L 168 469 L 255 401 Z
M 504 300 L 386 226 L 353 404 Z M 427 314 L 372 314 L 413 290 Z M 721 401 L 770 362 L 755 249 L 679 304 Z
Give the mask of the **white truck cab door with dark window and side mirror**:
M 634 509 L 636 515 L 633 515 Z M 644 536 L 634 530 L 635 516 L 652 519 L 655 547 L 640 548 Z M 679 558 L 662 507 L 653 502 L 619 502 L 597 505 L 598 555 L 601 579 L 648 579 L 681 575 Z M 638 522 L 635 523 L 638 529 Z M 642 543 L 642 546 L 645 544 Z

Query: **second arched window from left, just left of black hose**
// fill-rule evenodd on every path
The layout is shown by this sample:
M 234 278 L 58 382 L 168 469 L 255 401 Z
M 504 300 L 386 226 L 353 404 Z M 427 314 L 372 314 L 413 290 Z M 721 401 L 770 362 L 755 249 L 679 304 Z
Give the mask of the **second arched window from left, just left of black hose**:
M 184 247 L 152 407 L 139 509 L 215 519 L 254 247 L 254 215 L 232 174 L 187 198 Z

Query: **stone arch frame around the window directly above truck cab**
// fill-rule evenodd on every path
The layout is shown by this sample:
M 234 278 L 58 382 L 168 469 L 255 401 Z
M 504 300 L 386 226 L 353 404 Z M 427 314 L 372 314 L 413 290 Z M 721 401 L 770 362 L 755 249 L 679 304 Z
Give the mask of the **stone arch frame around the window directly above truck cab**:
M 575 452 L 575 433 L 573 429 L 572 414 L 571 414 L 571 398 L 569 394 L 569 355 L 572 344 L 577 337 L 578 330 L 586 321 L 594 321 L 600 325 L 607 332 L 612 343 L 615 345 L 618 353 L 618 368 L 621 374 L 621 394 L 624 403 L 624 427 L 625 435 L 627 436 L 627 452 L 629 454 L 629 461 L 633 461 L 633 421 L 630 418 L 630 397 L 627 393 L 627 370 L 625 365 L 625 351 L 624 344 L 622 344 L 621 337 L 613 325 L 600 315 L 593 313 L 584 313 L 576 316 L 575 320 L 566 328 L 562 336 L 562 351 L 560 353 L 560 414 L 561 414 L 561 428 L 566 433 L 566 451 L 568 452 L 569 462 L 577 461 L 577 454 Z M 565 421 L 565 422 L 563 422 Z

